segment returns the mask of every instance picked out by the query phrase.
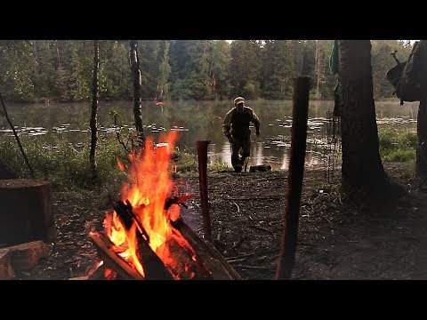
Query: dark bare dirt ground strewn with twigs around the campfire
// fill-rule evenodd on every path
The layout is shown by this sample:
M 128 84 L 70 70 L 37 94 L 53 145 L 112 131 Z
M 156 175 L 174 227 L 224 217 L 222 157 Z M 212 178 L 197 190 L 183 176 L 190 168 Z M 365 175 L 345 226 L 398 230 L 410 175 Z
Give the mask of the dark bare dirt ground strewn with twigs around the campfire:
M 414 164 L 385 163 L 407 190 L 387 212 L 361 213 L 342 202 L 340 172 L 305 171 L 293 279 L 427 279 L 427 193 Z M 244 280 L 274 279 L 286 208 L 286 171 L 208 172 L 209 212 L 216 248 Z M 178 179 L 196 196 L 181 209 L 203 236 L 197 176 Z M 93 272 L 99 258 L 87 227 L 102 228 L 111 211 L 102 192 L 53 192 L 57 235 L 50 254 L 16 279 L 65 280 Z

